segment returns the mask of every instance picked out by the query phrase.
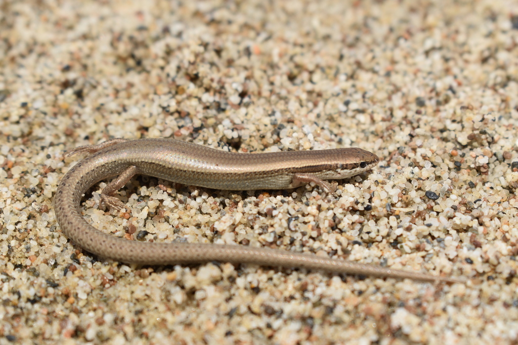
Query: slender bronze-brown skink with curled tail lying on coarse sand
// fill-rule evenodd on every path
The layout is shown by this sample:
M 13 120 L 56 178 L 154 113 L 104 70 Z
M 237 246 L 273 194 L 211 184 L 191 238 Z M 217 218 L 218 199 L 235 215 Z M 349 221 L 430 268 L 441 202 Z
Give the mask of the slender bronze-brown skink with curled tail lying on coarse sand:
M 304 267 L 334 273 L 459 282 L 450 277 L 402 271 L 340 259 L 269 248 L 193 243 L 146 243 L 110 236 L 81 215 L 83 194 L 95 183 L 118 176 L 102 191 L 102 201 L 121 209 L 113 196 L 136 174 L 186 185 L 224 190 L 290 189 L 314 182 L 328 192 L 325 179 L 354 176 L 375 166 L 378 156 L 360 148 L 277 153 L 230 153 L 173 139 L 112 139 L 81 146 L 66 156 L 91 153 L 63 177 L 55 194 L 55 215 L 63 233 L 99 257 L 125 263 L 182 264 L 221 261 Z

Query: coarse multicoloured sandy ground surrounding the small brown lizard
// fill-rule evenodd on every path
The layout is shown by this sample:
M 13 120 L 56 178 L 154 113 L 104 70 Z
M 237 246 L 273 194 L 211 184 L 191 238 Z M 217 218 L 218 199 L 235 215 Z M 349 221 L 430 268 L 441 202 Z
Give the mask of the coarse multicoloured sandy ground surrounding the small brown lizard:
M 518 341 L 516 1 L 0 0 L 0 344 Z M 136 177 L 136 241 L 312 252 L 466 284 L 81 250 L 53 198 L 110 138 L 237 152 L 362 147 L 371 172 L 288 191 Z

